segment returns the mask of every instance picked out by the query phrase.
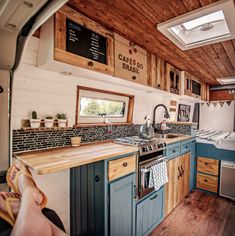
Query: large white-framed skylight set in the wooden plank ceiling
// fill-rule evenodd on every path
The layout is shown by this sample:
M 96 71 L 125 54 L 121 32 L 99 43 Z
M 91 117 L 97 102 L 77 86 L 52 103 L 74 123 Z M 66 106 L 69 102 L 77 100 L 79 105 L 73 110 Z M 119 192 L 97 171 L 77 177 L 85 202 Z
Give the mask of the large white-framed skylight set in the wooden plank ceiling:
M 235 38 L 233 0 L 219 1 L 158 24 L 182 50 Z

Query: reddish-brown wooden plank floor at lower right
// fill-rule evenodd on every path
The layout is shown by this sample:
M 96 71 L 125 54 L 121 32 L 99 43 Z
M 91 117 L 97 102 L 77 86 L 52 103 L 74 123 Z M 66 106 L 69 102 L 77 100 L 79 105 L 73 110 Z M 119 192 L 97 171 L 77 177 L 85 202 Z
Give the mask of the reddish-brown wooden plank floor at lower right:
M 151 236 L 235 236 L 235 202 L 193 191 Z

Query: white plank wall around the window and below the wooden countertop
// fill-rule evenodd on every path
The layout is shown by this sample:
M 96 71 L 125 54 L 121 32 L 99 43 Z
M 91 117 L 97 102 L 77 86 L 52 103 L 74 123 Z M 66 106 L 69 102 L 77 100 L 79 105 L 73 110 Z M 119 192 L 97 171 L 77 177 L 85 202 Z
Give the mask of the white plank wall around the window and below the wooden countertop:
M 33 110 L 37 111 L 41 118 L 57 113 L 67 113 L 69 126 L 74 125 L 77 85 L 135 95 L 133 121 L 137 124 L 143 122 L 146 114 L 152 117 L 155 105 L 163 103 L 169 108 L 171 99 L 169 95 L 162 95 L 157 90 L 149 94 L 146 92 L 146 87 L 143 87 L 145 91 L 141 91 L 138 86 L 135 87 L 135 84 L 131 82 L 130 86 L 127 87 L 125 84 L 122 86 L 87 78 L 64 76 L 57 72 L 39 69 L 36 66 L 38 46 L 39 39 L 32 37 L 14 75 L 13 129 L 21 128 L 21 120 L 30 118 Z M 182 103 L 193 105 L 192 102 L 184 101 Z M 162 117 L 163 112 L 159 109 L 156 116 L 157 121 L 160 122 Z M 69 233 L 69 171 L 44 176 L 34 174 L 34 176 L 40 188 L 48 195 L 48 207 L 59 214 L 65 224 L 66 231 Z

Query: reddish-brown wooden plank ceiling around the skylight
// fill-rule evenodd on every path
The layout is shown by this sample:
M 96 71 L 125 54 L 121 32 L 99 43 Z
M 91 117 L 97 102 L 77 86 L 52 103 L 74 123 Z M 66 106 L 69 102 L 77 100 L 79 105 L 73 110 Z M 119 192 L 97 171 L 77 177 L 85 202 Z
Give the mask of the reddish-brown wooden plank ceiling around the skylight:
M 181 51 L 156 24 L 216 0 L 70 0 L 68 5 L 210 85 L 235 76 L 235 40 Z

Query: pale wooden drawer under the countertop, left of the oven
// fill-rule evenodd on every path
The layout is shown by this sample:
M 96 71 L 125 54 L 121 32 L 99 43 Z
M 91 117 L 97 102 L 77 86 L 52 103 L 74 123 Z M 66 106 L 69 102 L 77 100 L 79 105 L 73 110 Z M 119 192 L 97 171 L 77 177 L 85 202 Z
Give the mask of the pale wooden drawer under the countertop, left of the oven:
M 125 176 L 136 170 L 136 156 L 128 156 L 108 162 L 109 181 Z

